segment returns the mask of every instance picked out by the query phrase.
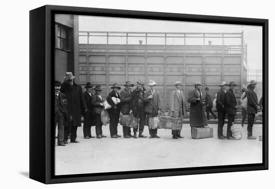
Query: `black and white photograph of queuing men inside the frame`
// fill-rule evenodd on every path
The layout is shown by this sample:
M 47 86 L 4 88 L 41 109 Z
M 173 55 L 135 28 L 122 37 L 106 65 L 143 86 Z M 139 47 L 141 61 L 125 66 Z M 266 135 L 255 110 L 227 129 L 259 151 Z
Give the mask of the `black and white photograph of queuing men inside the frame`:
M 263 162 L 262 26 L 54 14 L 54 175 Z

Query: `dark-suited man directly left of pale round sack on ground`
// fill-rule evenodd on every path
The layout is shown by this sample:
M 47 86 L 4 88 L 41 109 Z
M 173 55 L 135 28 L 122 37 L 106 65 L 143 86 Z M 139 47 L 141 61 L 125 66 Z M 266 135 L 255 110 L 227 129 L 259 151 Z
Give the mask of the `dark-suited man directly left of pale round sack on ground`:
M 235 121 L 235 115 L 237 114 L 237 101 L 234 94 L 234 87 L 236 86 L 234 81 L 229 82 L 228 86 L 230 87 L 225 94 L 225 110 L 228 116 L 227 122 L 227 131 L 226 131 L 226 138 L 227 139 L 234 139 L 231 132 L 231 126 Z

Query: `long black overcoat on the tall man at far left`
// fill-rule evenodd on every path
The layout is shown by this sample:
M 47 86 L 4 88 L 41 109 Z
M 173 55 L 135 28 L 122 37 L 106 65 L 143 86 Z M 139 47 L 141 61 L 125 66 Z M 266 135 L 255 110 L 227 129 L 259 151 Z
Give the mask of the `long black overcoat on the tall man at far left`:
M 68 85 L 63 82 L 60 91 L 66 94 L 67 109 L 72 116 L 72 121 L 65 121 L 64 126 L 81 126 L 81 112 L 84 112 L 84 109 L 87 108 L 81 86 L 76 83 Z

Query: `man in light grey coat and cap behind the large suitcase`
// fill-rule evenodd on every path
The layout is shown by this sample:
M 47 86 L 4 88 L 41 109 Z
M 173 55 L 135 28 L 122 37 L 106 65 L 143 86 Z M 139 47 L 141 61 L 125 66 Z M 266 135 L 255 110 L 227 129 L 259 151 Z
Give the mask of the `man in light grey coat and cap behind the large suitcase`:
M 183 91 L 180 90 L 181 82 L 175 81 L 175 90 L 173 90 L 170 94 L 170 102 L 169 102 L 169 111 L 171 117 L 183 117 L 186 114 L 187 104 L 185 101 L 185 97 Z M 178 139 L 183 138 L 180 135 L 180 130 L 172 130 L 172 138 Z

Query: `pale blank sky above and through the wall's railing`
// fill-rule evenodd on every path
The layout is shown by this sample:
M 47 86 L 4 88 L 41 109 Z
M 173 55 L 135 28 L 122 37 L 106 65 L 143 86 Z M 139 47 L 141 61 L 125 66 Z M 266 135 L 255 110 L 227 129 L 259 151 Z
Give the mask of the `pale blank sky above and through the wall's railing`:
M 79 31 L 121 31 L 121 32 L 241 32 L 243 31 L 244 44 L 247 43 L 247 68 L 262 69 L 262 27 L 253 25 L 216 24 L 186 21 L 167 21 L 152 19 L 115 18 L 103 16 L 79 16 Z M 142 39 L 142 37 L 140 37 Z M 162 44 L 162 39 L 153 39 L 155 44 Z M 181 41 L 180 41 L 181 40 Z M 168 44 L 181 44 L 183 39 L 169 38 Z M 212 45 L 222 44 L 222 39 L 205 38 Z M 89 43 L 104 43 L 104 37 L 93 37 Z M 79 38 L 79 42 L 86 43 L 86 39 Z M 124 37 L 113 37 L 113 43 L 125 43 Z M 132 38 L 130 43 L 138 44 Z M 186 44 L 203 44 L 202 38 L 187 38 Z M 240 45 L 240 39 L 226 38 L 224 44 Z

